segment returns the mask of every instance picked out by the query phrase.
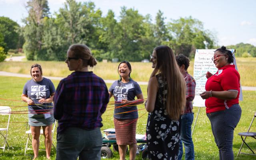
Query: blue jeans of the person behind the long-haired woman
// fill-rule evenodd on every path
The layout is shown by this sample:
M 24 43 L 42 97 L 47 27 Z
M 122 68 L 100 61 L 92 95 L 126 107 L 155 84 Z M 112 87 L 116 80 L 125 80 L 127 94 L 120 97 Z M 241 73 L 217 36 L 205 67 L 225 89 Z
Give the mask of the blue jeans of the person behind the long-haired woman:
M 191 136 L 191 126 L 194 120 L 194 113 L 186 113 L 181 116 L 181 128 L 180 128 L 180 148 L 178 154 L 178 160 L 182 159 L 183 146 L 185 148 L 185 160 L 194 160 L 194 144 Z

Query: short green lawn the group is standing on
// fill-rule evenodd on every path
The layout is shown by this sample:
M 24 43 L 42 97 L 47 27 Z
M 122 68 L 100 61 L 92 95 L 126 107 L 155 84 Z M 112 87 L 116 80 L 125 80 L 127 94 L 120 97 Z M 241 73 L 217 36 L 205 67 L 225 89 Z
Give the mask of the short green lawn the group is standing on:
M 6 77 L 0 76 L 0 98 L 10 99 L 10 100 L 21 100 L 21 94 L 23 90 L 23 86 L 29 78 L 16 78 L 16 77 Z M 58 82 L 57 80 L 53 80 L 55 87 L 57 87 Z M 111 84 L 107 84 L 110 87 Z M 146 88 L 147 86 L 142 85 L 141 89 L 144 94 L 144 98 L 146 98 Z M 254 112 L 256 111 L 256 91 L 243 91 L 243 98 L 244 101 L 240 102 L 242 107 L 242 117 L 241 120 L 234 131 L 234 155 L 236 156 L 242 140 L 240 136 L 238 136 L 238 132 L 246 132 Z M 112 101 L 111 99 L 110 101 Z M 7 101 L 7 100 L 0 100 L 0 105 L 11 106 L 12 111 L 20 111 L 20 110 L 27 110 L 25 102 L 17 102 L 17 101 Z M 14 106 L 23 106 L 14 108 Z M 113 128 L 113 110 L 111 109 L 112 106 L 108 106 L 107 111 L 103 114 L 103 124 L 104 126 L 101 128 L 102 130 L 107 128 Z M 144 108 L 144 105 L 138 105 L 138 109 Z M 196 118 L 196 114 L 198 111 L 198 107 L 194 108 L 194 119 Z M 139 116 L 142 116 L 146 113 L 146 110 L 139 111 Z M 137 124 L 137 134 L 145 134 L 146 128 L 146 121 L 147 121 L 147 113 L 144 114 L 138 120 Z M 0 117 L 0 126 L 6 125 L 6 118 L 3 116 Z M 0 150 L 0 159 L 1 160 L 31 160 L 33 158 L 33 151 L 28 150 L 27 154 L 24 155 L 24 149 L 26 146 L 27 135 L 25 134 L 26 130 L 28 130 L 27 126 L 27 114 L 12 114 L 11 115 L 11 123 L 8 132 L 8 143 L 10 145 L 9 148 L 6 148 L 6 151 L 3 152 Z M 194 124 L 193 124 L 194 125 Z M 252 125 L 252 130 L 255 131 L 256 128 L 256 121 Z M 205 108 L 200 109 L 200 113 L 198 115 L 198 122 L 196 124 L 196 128 L 193 134 L 193 141 L 195 145 L 195 158 L 196 160 L 218 160 L 218 148 L 214 142 L 214 138 L 210 128 L 210 121 L 206 117 Z M 0 138 L 0 145 L 3 144 L 3 138 Z M 41 136 L 40 138 L 40 148 L 44 149 L 44 138 Z M 53 137 L 54 144 L 56 144 L 56 132 Z M 252 146 L 252 148 L 256 148 L 256 142 L 252 138 L 246 139 L 248 144 Z M 31 148 L 31 146 L 30 146 Z M 255 150 L 255 149 L 254 149 Z M 243 152 L 250 152 L 249 149 L 244 148 Z M 55 159 L 56 150 L 52 148 L 51 153 L 52 159 Z M 45 158 L 46 153 L 45 151 L 39 151 L 39 158 L 38 160 L 46 160 Z M 248 160 L 248 159 L 255 159 L 255 156 L 248 156 L 248 155 L 240 155 L 237 159 L 238 160 Z M 126 157 L 128 160 L 128 156 Z M 141 155 L 136 156 L 136 160 L 141 160 Z M 118 152 L 114 152 L 114 157 L 110 160 L 119 160 Z

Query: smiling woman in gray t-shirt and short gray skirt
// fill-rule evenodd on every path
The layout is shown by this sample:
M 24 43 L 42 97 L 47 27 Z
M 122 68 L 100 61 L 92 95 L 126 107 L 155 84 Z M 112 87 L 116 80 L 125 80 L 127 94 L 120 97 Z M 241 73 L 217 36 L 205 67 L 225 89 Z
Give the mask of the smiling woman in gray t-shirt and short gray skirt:
M 25 84 L 21 97 L 28 103 L 28 123 L 32 134 L 34 159 L 38 157 L 41 126 L 45 137 L 46 158 L 50 159 L 52 124 L 55 121 L 52 108 L 55 87 L 51 80 L 42 77 L 42 68 L 39 64 L 31 66 L 30 74 L 32 79 Z

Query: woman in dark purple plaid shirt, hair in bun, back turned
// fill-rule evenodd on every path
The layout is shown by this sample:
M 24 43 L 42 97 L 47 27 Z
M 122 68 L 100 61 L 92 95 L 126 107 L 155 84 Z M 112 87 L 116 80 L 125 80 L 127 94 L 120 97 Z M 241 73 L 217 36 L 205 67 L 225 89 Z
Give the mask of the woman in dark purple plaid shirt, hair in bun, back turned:
M 54 97 L 54 118 L 58 120 L 56 160 L 100 160 L 101 115 L 109 101 L 102 78 L 88 71 L 97 64 L 86 45 L 69 47 L 69 70 L 60 81 Z

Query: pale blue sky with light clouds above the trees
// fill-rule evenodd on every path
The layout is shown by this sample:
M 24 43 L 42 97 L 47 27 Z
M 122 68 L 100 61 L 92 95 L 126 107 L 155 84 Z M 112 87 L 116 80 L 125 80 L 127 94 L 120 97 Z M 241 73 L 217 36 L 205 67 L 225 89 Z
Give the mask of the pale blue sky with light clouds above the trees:
M 85 0 L 76 0 L 86 2 Z M 134 8 L 152 19 L 161 10 L 170 19 L 192 16 L 203 22 L 204 28 L 215 33 L 219 45 L 240 42 L 256 46 L 256 0 L 91 0 L 106 16 L 113 10 L 118 18 L 121 6 Z M 48 0 L 50 12 L 58 12 L 65 0 Z M 0 0 L 0 16 L 6 16 L 24 25 L 27 16 L 26 0 Z

